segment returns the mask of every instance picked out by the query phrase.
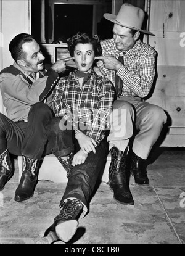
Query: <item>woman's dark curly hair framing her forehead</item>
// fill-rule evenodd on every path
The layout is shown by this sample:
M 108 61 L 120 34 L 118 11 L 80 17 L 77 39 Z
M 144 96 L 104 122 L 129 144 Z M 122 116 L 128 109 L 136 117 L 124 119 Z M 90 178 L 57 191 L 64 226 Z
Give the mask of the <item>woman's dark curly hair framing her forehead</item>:
M 68 51 L 70 56 L 74 56 L 75 46 L 77 44 L 92 44 L 95 56 L 102 55 L 102 47 L 98 36 L 93 36 L 92 38 L 87 33 L 76 33 L 72 38 L 68 40 Z

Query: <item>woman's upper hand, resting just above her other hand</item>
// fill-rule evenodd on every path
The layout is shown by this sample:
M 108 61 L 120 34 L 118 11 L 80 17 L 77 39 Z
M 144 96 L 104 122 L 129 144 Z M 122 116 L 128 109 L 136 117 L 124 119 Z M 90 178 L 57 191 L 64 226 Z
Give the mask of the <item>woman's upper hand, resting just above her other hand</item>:
M 78 140 L 78 144 L 84 152 L 84 154 L 88 154 L 91 151 L 93 151 L 94 154 L 96 153 L 95 147 L 97 147 L 97 144 L 94 141 L 94 139 L 90 138 L 86 134 L 83 134 L 81 131 L 77 133 L 75 137 Z

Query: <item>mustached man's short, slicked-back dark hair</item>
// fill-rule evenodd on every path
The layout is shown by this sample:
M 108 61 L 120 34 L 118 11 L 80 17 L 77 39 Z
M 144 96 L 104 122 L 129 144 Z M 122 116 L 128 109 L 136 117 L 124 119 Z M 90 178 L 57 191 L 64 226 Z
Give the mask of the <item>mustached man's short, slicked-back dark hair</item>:
M 17 62 L 17 60 L 25 59 L 25 52 L 22 51 L 22 45 L 27 42 L 33 41 L 33 36 L 27 33 L 21 33 L 15 36 L 9 44 L 9 51 L 11 52 L 12 58 Z

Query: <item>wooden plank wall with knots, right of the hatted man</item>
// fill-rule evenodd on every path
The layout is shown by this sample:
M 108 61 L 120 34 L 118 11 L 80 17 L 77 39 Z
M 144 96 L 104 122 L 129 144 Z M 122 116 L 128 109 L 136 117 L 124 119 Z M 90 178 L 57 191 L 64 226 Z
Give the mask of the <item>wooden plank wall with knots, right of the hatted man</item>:
M 158 53 L 158 77 L 150 103 L 168 115 L 168 136 L 162 146 L 185 146 L 185 1 L 151 0 L 149 44 Z

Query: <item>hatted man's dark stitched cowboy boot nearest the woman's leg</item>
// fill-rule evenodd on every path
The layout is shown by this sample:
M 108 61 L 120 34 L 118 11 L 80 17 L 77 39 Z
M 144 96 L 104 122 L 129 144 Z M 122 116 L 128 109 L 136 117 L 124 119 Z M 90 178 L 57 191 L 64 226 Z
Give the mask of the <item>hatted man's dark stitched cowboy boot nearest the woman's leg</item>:
M 124 152 L 121 152 L 117 147 L 110 149 L 111 163 L 109 167 L 110 189 L 113 191 L 115 200 L 125 205 L 133 205 L 134 200 L 130 192 L 130 188 L 126 183 L 126 156 L 129 147 L 126 147 Z

